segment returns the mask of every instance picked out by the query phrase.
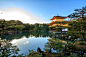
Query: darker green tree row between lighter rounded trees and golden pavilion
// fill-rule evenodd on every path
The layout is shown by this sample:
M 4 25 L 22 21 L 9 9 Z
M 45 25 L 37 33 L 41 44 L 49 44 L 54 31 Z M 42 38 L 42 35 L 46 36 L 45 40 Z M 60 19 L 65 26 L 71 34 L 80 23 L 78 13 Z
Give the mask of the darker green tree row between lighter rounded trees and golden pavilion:
M 24 29 L 23 30 L 32 30 L 32 31 L 39 31 L 39 30 L 43 30 L 43 31 L 48 31 L 49 30 L 49 25 L 48 24 L 24 24 Z

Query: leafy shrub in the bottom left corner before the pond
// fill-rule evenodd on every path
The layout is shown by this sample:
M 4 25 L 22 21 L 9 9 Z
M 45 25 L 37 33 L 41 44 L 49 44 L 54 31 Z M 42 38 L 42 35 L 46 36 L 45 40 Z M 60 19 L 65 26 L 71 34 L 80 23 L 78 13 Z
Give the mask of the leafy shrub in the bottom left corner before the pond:
M 0 57 L 15 56 L 20 51 L 17 46 L 12 46 L 7 40 L 0 40 Z

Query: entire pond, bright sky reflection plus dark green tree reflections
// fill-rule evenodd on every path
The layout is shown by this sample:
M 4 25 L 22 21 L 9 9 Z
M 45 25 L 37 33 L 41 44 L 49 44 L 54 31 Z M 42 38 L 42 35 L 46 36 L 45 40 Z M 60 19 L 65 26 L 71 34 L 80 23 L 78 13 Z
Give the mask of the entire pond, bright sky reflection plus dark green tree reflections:
M 16 45 L 19 48 L 18 54 L 27 55 L 28 50 L 36 51 L 38 47 L 44 51 L 44 45 L 50 39 L 50 33 L 46 32 L 23 32 L 21 34 L 15 35 L 3 35 L 0 36 L 1 39 L 9 40 L 12 45 Z M 54 52 L 54 50 L 53 50 Z

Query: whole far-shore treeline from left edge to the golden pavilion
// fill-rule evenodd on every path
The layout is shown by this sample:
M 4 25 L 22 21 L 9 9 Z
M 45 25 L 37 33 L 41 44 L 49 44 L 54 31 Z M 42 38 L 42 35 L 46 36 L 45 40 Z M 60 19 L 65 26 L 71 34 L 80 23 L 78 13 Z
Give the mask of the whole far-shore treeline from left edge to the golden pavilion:
M 23 24 L 19 20 L 0 20 L 0 34 L 18 33 L 19 31 L 48 31 L 48 24 Z

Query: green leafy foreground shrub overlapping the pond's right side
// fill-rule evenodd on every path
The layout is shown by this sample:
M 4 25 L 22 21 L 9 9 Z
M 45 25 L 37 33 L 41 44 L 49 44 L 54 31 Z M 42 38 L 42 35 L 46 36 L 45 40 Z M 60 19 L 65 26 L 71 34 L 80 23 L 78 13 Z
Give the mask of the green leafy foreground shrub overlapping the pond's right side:
M 45 51 L 49 51 L 51 48 L 53 48 L 53 50 L 56 50 L 56 52 L 61 52 L 64 49 L 63 45 L 66 43 L 57 38 L 48 39 L 48 41 L 49 42 L 47 42 L 44 47 Z

